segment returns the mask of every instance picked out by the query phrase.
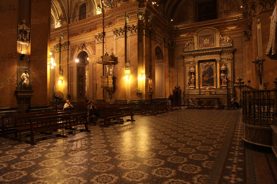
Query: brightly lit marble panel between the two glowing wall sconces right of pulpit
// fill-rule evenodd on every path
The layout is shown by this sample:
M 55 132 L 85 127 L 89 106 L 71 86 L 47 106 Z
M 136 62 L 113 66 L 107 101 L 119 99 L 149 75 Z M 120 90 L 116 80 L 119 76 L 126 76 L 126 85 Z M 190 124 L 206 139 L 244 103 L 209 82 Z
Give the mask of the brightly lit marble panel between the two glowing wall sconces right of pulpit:
M 138 100 L 139 98 L 136 95 L 139 87 L 138 81 L 138 66 L 139 66 L 139 57 L 138 57 L 138 36 L 129 37 L 130 41 L 130 100 Z

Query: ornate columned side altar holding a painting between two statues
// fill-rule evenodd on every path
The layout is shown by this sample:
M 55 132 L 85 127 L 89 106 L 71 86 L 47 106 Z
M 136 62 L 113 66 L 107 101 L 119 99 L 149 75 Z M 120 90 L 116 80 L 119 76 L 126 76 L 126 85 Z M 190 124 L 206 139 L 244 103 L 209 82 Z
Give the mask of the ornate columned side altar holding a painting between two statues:
M 183 100 L 213 100 L 229 104 L 234 95 L 232 40 L 218 29 L 204 27 L 187 41 L 182 53 L 185 64 Z

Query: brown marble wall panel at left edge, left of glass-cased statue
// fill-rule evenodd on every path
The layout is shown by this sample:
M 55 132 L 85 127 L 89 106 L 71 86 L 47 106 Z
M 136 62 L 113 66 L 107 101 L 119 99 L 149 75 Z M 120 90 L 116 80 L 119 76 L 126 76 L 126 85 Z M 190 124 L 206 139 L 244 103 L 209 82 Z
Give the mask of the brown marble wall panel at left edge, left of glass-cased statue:
M 17 61 L 19 50 L 17 51 L 17 14 L 18 1 L 1 1 L 0 2 L 0 25 L 1 25 L 1 42 L 0 44 L 0 64 L 2 74 L 0 77 L 0 103 L 1 108 L 17 107 L 15 90 L 17 85 Z M 46 98 L 46 97 L 45 97 Z

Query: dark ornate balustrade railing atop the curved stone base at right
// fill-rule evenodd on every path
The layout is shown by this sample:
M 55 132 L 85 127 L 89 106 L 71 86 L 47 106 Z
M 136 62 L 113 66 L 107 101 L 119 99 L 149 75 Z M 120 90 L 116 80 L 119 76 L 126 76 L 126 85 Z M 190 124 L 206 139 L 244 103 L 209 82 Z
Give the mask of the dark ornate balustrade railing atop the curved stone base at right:
M 242 91 L 243 122 L 249 125 L 273 125 L 277 116 L 277 78 L 272 90 Z

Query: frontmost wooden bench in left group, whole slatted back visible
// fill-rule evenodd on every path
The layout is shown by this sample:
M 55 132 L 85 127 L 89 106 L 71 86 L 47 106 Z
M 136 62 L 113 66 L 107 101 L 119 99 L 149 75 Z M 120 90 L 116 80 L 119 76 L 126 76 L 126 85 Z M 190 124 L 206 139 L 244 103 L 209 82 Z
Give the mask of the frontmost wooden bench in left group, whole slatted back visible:
M 85 125 L 85 128 L 77 129 L 77 125 Z M 64 128 L 70 127 L 74 128 L 72 130 L 64 131 Z M 18 127 L 17 129 L 20 129 L 20 127 Z M 58 129 L 62 129 L 62 131 L 52 133 L 54 130 Z M 64 135 L 64 133 L 77 130 L 90 132 L 87 121 L 87 113 L 73 113 L 58 116 L 34 118 L 30 119 L 30 141 L 26 140 L 25 142 L 36 145 L 36 139 L 42 139 L 53 135 L 67 137 L 66 135 Z M 35 137 L 35 134 L 37 133 L 44 133 L 46 135 Z

